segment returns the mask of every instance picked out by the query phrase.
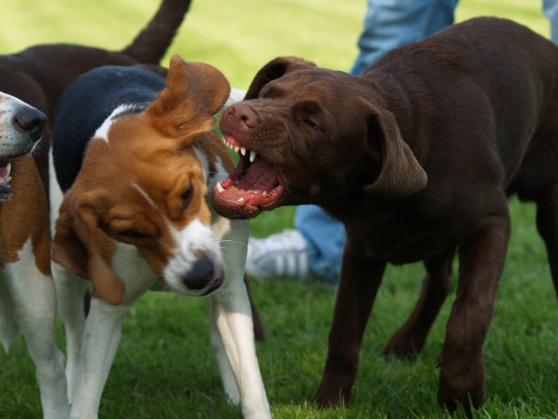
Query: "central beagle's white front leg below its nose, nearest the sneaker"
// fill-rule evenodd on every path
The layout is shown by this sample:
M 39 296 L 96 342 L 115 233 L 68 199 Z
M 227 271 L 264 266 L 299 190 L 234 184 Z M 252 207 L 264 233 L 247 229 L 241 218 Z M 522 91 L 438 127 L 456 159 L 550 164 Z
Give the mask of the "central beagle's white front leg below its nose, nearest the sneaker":
M 262 374 L 257 362 L 254 325 L 248 292 L 243 282 L 246 261 L 246 243 L 249 226 L 247 221 L 217 217 L 213 231 L 221 243 L 225 259 L 226 281 L 211 295 L 210 314 L 218 329 L 230 369 L 223 367 L 223 358 L 217 349 L 220 372 L 227 395 L 234 402 L 235 390 L 230 383 L 230 372 L 236 378 L 240 392 L 242 413 L 245 419 L 271 418 Z

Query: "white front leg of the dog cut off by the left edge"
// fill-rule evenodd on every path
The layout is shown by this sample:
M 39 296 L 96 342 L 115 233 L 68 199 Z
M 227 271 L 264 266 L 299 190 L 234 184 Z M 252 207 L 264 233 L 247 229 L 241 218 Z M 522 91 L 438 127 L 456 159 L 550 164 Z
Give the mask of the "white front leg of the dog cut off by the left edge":
M 68 418 L 70 407 L 63 355 L 54 340 L 56 291 L 52 278 L 42 274 L 33 260 L 33 247 L 28 242 L 20 260 L 3 269 L 2 277 L 13 302 L 15 323 L 36 366 L 43 418 Z

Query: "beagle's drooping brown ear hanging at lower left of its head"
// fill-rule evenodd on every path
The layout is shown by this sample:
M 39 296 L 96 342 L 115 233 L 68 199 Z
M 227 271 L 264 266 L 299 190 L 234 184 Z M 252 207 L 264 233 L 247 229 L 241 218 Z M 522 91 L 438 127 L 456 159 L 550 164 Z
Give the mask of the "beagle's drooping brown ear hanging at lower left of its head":
M 98 249 L 98 219 L 89 205 L 77 202 L 70 193 L 64 198 L 52 240 L 52 260 L 89 279 L 95 297 L 110 304 L 124 302 L 124 285 Z

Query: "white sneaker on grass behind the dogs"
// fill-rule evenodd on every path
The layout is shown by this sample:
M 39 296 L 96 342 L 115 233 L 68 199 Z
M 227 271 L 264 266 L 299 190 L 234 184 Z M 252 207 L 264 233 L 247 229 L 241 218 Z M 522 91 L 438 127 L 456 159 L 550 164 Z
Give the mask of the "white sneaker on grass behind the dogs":
M 259 279 L 293 278 L 308 281 L 310 256 L 306 240 L 296 230 L 283 230 L 264 239 L 250 237 L 246 273 Z

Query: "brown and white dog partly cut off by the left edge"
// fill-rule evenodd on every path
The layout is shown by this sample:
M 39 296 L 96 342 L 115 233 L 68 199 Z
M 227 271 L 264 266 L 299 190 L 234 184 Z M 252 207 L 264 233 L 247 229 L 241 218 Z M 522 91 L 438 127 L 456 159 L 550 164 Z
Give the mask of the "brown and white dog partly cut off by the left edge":
M 56 347 L 47 196 L 31 152 L 47 119 L 0 93 L 0 341 L 21 330 L 36 366 L 43 417 L 68 418 L 63 355 Z

